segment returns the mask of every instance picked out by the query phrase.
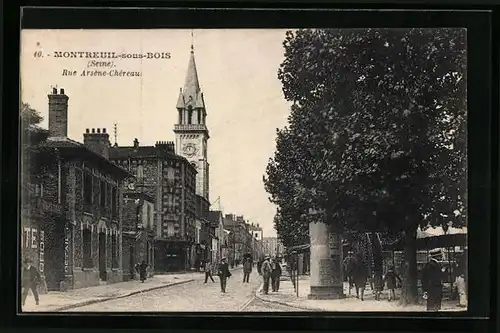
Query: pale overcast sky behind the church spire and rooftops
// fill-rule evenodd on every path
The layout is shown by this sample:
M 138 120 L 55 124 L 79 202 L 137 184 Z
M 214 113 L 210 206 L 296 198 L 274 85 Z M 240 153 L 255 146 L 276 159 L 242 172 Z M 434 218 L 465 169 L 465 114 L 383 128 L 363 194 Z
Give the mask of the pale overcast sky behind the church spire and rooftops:
M 262 176 L 275 149 L 276 128 L 290 113 L 277 70 L 285 30 L 194 30 L 198 77 L 210 131 L 210 201 L 220 196 L 224 213 L 244 215 L 275 236 L 275 206 Z M 69 96 L 68 136 L 82 142 L 86 128 L 107 128 L 118 145 L 174 141 L 175 105 L 189 60 L 190 30 L 28 30 L 22 32 L 22 101 L 47 126 L 51 86 Z M 43 57 L 36 57 L 41 51 Z M 114 69 L 140 77 L 63 76 L 87 69 L 87 59 L 54 58 L 56 51 L 170 52 L 170 59 L 115 59 Z M 38 53 L 37 55 L 40 55 Z M 88 68 L 90 69 L 90 68 Z M 218 209 L 215 204 L 212 209 Z

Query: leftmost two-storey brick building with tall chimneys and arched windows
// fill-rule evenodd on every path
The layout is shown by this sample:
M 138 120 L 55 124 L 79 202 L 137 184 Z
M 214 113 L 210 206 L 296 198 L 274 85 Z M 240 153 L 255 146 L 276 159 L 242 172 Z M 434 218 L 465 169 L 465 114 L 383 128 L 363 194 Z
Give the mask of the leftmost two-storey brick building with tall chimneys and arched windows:
M 122 184 L 131 175 L 108 160 L 105 129 L 87 130 L 84 144 L 67 138 L 63 89 L 48 98 L 50 137 L 31 156 L 47 168 L 23 180 L 31 190 L 22 204 L 22 255 L 36 259 L 48 290 L 122 281 Z

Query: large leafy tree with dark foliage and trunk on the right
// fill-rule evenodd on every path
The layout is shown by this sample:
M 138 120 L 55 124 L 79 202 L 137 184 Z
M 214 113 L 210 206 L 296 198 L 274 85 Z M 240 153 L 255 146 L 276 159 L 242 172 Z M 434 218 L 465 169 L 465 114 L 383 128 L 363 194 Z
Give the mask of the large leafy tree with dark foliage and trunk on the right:
M 459 29 L 299 30 L 284 42 L 278 77 L 294 107 L 266 190 L 337 228 L 400 234 L 405 303 L 417 301 L 417 227 L 465 223 L 465 45 Z

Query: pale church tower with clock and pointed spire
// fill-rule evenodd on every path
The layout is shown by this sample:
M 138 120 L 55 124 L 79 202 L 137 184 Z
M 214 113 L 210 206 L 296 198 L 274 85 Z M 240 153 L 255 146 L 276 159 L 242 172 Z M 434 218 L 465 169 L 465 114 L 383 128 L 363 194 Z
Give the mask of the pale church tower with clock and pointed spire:
M 191 44 L 186 80 L 177 100 L 178 120 L 174 126 L 176 154 L 185 157 L 198 172 L 196 175 L 196 194 L 208 198 L 209 164 L 207 144 L 210 138 L 206 126 L 207 110 L 203 93 L 198 81 L 194 60 L 194 47 Z

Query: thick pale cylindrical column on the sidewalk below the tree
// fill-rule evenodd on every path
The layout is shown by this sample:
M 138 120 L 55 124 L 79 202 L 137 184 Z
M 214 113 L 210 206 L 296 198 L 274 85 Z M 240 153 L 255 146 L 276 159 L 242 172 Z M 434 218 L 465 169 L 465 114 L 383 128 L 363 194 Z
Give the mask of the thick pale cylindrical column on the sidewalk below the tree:
M 323 222 L 309 224 L 311 239 L 309 299 L 344 297 L 341 235 Z

